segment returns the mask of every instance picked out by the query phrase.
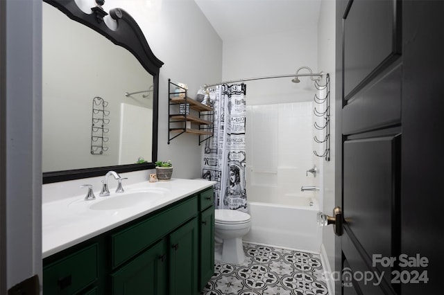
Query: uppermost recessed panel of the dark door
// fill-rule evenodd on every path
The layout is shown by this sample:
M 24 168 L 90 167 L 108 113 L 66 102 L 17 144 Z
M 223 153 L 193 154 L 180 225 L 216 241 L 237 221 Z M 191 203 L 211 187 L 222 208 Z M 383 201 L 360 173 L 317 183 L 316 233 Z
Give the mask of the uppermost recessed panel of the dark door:
M 343 31 L 345 99 L 359 84 L 365 84 L 370 73 L 390 64 L 391 57 L 398 54 L 397 2 L 350 1 Z

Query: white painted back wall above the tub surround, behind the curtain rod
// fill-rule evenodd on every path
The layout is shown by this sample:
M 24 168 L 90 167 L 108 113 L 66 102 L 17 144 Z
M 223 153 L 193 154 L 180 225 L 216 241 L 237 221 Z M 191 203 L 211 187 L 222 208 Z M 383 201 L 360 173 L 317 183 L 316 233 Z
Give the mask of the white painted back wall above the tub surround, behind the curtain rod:
M 300 66 L 317 66 L 317 30 L 310 28 L 233 39 L 223 42 L 223 80 L 285 75 L 296 73 Z M 307 73 L 307 72 L 301 72 Z M 246 82 L 247 104 L 266 105 L 280 102 L 308 101 L 313 84 L 302 78 L 298 84 L 291 78 Z

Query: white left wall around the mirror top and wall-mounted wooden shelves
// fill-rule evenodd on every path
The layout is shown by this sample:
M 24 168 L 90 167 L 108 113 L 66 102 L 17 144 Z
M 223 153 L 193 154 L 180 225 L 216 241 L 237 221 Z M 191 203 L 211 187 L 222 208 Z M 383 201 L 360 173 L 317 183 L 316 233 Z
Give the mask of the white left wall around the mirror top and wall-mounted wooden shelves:
M 182 134 L 168 145 L 168 78 L 188 84 L 194 98 L 200 86 L 221 81 L 222 40 L 194 0 L 157 0 L 156 13 L 142 0 L 107 0 L 105 10 L 123 8 L 139 24 L 160 69 L 157 158 L 173 162 L 173 177 L 200 177 L 198 136 Z

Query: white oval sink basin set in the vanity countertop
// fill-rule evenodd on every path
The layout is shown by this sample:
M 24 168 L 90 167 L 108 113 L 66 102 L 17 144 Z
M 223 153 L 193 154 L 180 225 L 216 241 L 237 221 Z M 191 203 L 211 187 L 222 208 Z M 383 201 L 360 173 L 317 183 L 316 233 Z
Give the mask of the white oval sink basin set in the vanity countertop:
M 165 188 L 128 190 L 125 193 L 111 193 L 111 195 L 107 197 L 96 196 L 96 199 L 91 201 L 84 199 L 76 200 L 68 206 L 77 213 L 86 213 L 87 211 L 118 211 L 120 209 L 152 204 L 164 198 L 168 192 L 169 190 Z

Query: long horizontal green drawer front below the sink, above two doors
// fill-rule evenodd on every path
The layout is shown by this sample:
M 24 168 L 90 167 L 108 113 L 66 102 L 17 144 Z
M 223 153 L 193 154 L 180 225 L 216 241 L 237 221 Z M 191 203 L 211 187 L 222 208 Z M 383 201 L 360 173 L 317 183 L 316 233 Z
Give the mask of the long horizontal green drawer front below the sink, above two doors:
M 111 235 L 112 267 L 118 267 L 197 214 L 197 197 Z

